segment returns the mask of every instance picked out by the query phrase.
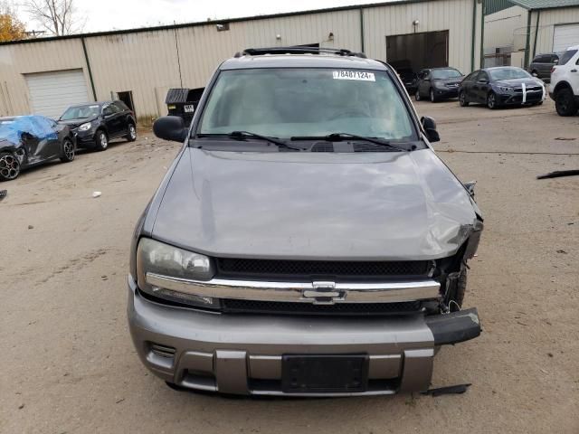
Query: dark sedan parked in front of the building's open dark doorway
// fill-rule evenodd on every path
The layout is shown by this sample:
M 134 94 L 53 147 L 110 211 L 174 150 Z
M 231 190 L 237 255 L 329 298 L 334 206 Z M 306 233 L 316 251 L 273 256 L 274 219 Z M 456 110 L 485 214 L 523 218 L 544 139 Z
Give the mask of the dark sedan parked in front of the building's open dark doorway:
M 418 83 L 414 98 L 430 98 L 431 102 L 459 96 L 459 84 L 464 76 L 454 68 L 432 68 L 418 74 Z

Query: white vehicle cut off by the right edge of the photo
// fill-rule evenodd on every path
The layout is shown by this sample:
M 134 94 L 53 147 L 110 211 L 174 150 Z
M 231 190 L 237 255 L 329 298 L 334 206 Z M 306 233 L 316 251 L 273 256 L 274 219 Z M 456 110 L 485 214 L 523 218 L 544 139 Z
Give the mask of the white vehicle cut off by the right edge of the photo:
M 567 48 L 553 67 L 549 96 L 560 116 L 574 116 L 579 110 L 579 45 Z

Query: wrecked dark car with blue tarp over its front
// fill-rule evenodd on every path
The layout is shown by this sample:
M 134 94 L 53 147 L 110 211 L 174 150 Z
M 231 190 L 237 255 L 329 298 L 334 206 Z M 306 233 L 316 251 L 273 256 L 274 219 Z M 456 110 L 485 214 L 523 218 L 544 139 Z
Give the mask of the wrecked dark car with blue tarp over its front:
M 69 127 L 43 116 L 0 118 L 0 181 L 9 181 L 33 165 L 74 159 Z

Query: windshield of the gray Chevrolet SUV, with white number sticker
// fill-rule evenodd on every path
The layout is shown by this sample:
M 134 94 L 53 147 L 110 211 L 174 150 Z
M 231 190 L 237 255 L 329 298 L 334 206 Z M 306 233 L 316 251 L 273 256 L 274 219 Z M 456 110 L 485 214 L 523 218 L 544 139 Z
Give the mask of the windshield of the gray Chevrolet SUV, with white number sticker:
M 198 134 L 262 136 L 348 133 L 416 139 L 408 110 L 385 71 L 258 69 L 222 71 Z

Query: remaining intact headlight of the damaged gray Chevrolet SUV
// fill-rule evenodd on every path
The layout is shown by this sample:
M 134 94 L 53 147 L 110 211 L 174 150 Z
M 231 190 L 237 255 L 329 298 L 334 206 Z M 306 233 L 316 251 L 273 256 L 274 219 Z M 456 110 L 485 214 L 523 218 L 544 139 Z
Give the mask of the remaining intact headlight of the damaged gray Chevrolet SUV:
M 207 281 L 211 280 L 214 274 L 214 263 L 205 255 L 149 238 L 142 238 L 138 242 L 138 288 L 151 296 L 198 307 L 219 307 L 219 300 L 216 298 L 164 288 L 162 283 L 163 280 L 178 279 Z

